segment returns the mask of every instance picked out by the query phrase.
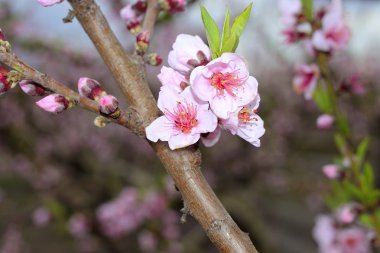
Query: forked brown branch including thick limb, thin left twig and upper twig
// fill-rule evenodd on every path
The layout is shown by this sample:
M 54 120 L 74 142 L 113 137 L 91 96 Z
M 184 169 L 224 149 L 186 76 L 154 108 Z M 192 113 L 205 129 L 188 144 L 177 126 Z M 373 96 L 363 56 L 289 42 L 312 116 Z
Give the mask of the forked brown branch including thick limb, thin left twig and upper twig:
M 129 104 L 128 111 L 122 112 L 116 123 L 131 129 L 138 136 L 145 136 L 145 127 L 159 113 L 146 80 L 143 60 L 140 56 L 129 55 L 124 51 L 94 0 L 68 1 Z M 150 34 L 153 32 L 158 13 L 157 0 L 148 0 L 143 30 Z M 17 57 L 0 53 L 0 61 L 23 71 L 26 78 L 74 99 L 79 106 L 99 113 L 95 101 L 80 97 L 78 93 L 29 67 Z M 248 234 L 239 229 L 204 178 L 200 168 L 199 149 L 190 146 L 173 151 L 164 142 L 150 144 L 181 192 L 186 203 L 186 213 L 200 223 L 216 248 L 228 253 L 257 253 Z

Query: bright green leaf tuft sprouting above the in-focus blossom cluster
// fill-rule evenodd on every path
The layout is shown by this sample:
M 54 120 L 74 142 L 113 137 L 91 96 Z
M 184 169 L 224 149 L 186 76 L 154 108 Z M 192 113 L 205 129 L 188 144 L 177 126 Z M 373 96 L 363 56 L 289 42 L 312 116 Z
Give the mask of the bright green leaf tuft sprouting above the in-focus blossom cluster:
M 225 52 L 235 52 L 241 33 L 248 22 L 251 14 L 252 3 L 240 13 L 230 27 L 230 12 L 226 9 L 223 32 L 220 37 L 219 28 L 212 19 L 206 8 L 201 5 L 201 16 L 206 29 L 207 41 L 211 50 L 212 58 L 218 58 Z

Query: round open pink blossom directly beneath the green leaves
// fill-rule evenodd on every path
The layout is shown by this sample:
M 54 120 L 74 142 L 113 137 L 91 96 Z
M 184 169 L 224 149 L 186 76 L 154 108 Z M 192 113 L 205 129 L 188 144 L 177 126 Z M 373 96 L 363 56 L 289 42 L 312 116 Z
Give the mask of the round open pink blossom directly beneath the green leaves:
M 252 102 L 258 88 L 246 62 L 234 53 L 224 53 L 206 66 L 195 68 L 190 75 L 190 85 L 193 93 L 209 102 L 211 110 L 222 119 Z

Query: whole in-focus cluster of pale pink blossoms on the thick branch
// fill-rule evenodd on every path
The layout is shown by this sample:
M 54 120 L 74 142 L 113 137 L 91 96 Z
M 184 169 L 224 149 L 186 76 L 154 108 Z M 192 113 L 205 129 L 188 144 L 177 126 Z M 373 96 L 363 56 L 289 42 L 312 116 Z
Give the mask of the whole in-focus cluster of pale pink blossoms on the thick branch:
M 168 141 L 178 149 L 201 139 L 210 147 L 226 129 L 260 146 L 265 130 L 257 115 L 258 82 L 241 56 L 226 52 L 211 59 L 200 37 L 180 34 L 168 62 L 158 75 L 158 107 L 164 115 L 146 128 L 150 141 Z

